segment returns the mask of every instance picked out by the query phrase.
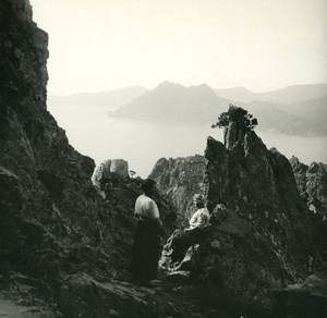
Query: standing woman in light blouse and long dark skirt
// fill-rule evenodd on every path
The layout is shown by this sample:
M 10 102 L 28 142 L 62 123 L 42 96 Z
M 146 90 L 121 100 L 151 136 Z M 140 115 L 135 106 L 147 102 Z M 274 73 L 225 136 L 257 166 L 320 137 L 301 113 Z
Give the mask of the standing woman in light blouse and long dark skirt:
M 135 201 L 135 217 L 138 219 L 131 270 L 138 283 L 150 285 L 157 278 L 160 234 L 162 233 L 159 220 L 158 206 L 153 199 L 156 182 L 146 179 L 142 184 L 143 194 Z

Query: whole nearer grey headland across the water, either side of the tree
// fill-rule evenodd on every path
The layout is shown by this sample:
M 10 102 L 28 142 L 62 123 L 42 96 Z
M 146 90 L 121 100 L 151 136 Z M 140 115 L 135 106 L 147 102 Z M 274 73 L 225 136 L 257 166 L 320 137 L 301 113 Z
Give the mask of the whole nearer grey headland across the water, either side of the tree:
M 289 88 L 286 88 L 283 93 L 288 90 Z M 239 91 L 239 97 L 252 96 L 246 88 L 238 87 L 234 91 Z M 287 97 L 286 99 L 291 100 Z M 213 124 L 221 112 L 228 110 L 230 102 L 234 102 L 234 99 L 218 97 L 215 90 L 205 84 L 184 87 L 164 82 L 108 114 L 138 121 Z M 327 135 L 324 124 L 326 97 L 290 105 L 266 101 L 238 101 L 235 105 L 253 113 L 258 119 L 262 130 L 290 135 Z

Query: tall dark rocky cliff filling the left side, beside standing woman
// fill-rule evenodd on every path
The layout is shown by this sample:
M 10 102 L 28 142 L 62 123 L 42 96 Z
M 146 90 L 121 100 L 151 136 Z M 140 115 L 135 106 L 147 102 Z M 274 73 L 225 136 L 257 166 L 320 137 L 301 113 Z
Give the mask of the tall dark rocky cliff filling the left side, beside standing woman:
M 94 160 L 69 144 L 47 110 L 47 46 L 29 1 L 1 1 L 1 291 L 28 306 L 55 304 L 49 317 L 105 317 L 101 310 L 121 307 L 121 297 L 111 289 L 107 307 L 96 308 L 92 282 L 125 271 L 141 191 L 120 179 L 106 200 L 97 194 Z M 80 298 L 70 299 L 68 291 Z

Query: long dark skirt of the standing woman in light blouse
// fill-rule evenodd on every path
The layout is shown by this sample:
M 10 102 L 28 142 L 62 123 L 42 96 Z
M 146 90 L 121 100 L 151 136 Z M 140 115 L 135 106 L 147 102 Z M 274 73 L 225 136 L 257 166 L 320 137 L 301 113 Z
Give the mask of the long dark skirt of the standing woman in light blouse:
M 159 260 L 160 236 L 154 221 L 138 221 L 133 253 L 131 271 L 134 277 L 152 280 L 157 277 Z

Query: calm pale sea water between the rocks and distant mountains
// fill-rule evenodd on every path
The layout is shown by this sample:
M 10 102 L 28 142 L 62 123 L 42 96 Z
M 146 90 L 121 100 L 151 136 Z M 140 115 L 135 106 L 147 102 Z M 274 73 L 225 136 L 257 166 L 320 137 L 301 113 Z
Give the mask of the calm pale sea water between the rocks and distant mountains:
M 71 145 L 97 164 L 122 158 L 129 169 L 146 178 L 159 158 L 203 155 L 206 139 L 222 140 L 222 130 L 207 124 L 154 124 L 107 117 L 105 108 L 48 107 L 65 130 Z M 215 121 L 215 119 L 214 119 Z M 276 147 L 290 158 L 308 164 L 327 163 L 327 137 L 289 136 L 256 130 L 268 148 Z

